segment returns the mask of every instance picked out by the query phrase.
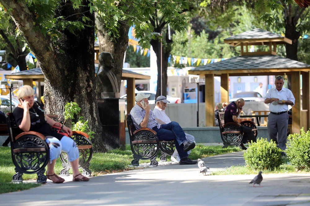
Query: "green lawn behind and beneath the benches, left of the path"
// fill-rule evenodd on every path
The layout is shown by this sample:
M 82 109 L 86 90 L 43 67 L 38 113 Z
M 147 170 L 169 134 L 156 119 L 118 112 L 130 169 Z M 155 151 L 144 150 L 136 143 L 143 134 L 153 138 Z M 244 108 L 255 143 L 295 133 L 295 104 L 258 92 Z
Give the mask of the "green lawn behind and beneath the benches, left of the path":
M 192 160 L 204 157 L 215 156 L 219 154 L 225 154 L 229 152 L 241 151 L 238 147 L 222 148 L 221 146 L 203 146 L 197 144 L 192 150 L 189 158 Z M 160 152 L 158 157 L 160 156 Z M 133 155 L 130 149 L 130 145 L 126 145 L 126 149 L 114 149 L 106 153 L 94 153 L 90 162 L 89 169 L 92 171 L 92 175 L 107 174 L 113 172 L 119 172 L 124 170 L 132 170 L 128 168 L 131 164 Z M 167 157 L 170 161 L 170 157 Z M 157 159 L 158 160 L 158 159 Z M 149 162 L 149 160 L 139 161 L 139 163 Z M 15 174 L 14 165 L 11 160 L 11 149 L 9 147 L 0 147 L 0 194 L 12 191 L 26 190 L 32 187 L 37 187 L 40 184 L 36 183 L 23 183 L 14 184 L 11 183 L 12 176 Z M 62 169 L 61 161 L 58 158 L 55 164 L 55 173 L 59 174 Z M 72 170 L 69 170 L 72 174 Z M 37 179 L 36 174 L 23 174 L 23 180 Z

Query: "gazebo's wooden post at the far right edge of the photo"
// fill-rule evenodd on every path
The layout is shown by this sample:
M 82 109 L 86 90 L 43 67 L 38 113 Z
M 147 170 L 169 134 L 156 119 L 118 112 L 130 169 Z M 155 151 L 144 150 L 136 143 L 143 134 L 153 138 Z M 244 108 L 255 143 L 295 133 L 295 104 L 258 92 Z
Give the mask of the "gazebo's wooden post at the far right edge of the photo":
M 307 109 L 307 128 L 310 129 L 310 72 L 303 72 L 303 109 Z

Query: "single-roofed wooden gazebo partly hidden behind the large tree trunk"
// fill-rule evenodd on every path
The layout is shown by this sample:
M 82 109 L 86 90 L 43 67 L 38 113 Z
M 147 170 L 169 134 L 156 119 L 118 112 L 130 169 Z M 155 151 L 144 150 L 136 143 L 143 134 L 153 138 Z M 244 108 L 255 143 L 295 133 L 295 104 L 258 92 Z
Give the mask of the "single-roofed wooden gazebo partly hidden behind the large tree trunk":
M 98 66 L 95 66 L 95 74 L 97 73 Z M 33 86 L 32 82 L 38 82 L 39 97 L 42 96 L 41 82 L 44 82 L 44 75 L 40 68 L 20 71 L 12 74 L 5 75 L 6 79 L 20 79 L 23 80 L 24 85 Z M 127 111 L 135 105 L 135 79 L 151 79 L 148 75 L 139 74 L 133 71 L 122 70 L 122 79 L 127 80 Z M 40 98 L 38 98 L 40 101 Z

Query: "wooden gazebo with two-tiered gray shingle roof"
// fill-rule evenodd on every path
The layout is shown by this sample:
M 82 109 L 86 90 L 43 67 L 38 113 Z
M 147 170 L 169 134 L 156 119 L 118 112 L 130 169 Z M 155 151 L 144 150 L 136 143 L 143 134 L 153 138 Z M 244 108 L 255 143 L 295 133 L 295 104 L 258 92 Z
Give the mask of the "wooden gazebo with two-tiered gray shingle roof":
M 292 92 L 296 99 L 295 105 L 292 107 L 292 131 L 299 133 L 301 125 L 300 75 L 302 75 L 302 108 L 304 112 L 307 112 L 304 119 L 307 121 L 305 129 L 308 130 L 310 123 L 310 65 L 276 55 L 277 44 L 292 44 L 292 41 L 278 34 L 254 29 L 231 36 L 224 42 L 232 46 L 241 46 L 241 56 L 206 64 L 188 71 L 189 74 L 204 77 L 206 81 L 206 126 L 210 127 L 214 124 L 214 76 L 221 77 L 221 101 L 228 102 L 229 76 L 291 75 Z M 249 52 L 248 46 L 250 45 L 266 45 L 269 50 Z

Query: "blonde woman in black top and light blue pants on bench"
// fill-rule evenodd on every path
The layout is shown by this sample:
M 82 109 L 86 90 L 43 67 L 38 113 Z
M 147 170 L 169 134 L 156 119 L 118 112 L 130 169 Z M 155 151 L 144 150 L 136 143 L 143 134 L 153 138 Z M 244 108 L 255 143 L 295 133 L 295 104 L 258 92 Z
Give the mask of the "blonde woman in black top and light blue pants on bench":
M 79 151 L 73 139 L 63 136 L 52 130 L 56 121 L 47 117 L 44 110 L 34 101 L 34 90 L 28 85 L 19 88 L 17 97 L 19 105 L 14 109 L 13 115 L 17 126 L 23 131 L 35 131 L 46 136 L 46 142 L 50 147 L 50 161 L 47 164 L 46 176 L 54 183 L 62 183 L 64 179 L 54 172 L 54 166 L 61 151 L 68 154 L 68 159 L 73 170 L 73 181 L 84 182 L 89 178 L 84 177 L 78 169 Z M 68 134 L 72 135 L 72 130 L 64 125 L 61 128 Z

